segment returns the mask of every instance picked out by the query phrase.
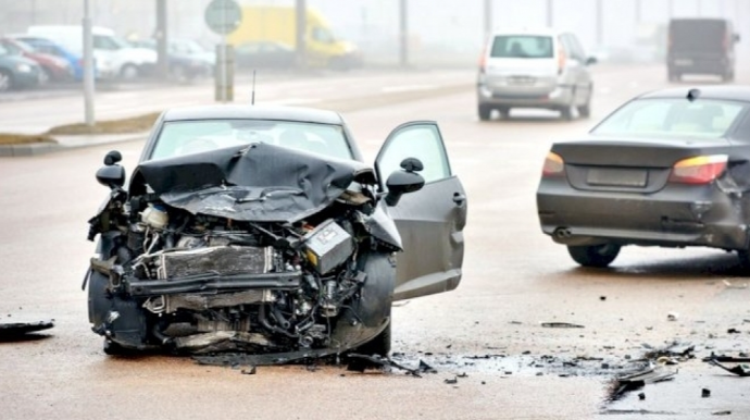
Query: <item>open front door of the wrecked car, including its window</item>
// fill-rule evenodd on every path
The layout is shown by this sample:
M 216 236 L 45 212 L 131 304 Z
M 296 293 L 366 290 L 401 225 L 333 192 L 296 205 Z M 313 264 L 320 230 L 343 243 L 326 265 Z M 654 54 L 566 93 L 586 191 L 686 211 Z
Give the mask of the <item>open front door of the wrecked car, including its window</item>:
M 403 252 L 398 255 L 393 300 L 452 291 L 461 281 L 466 195 L 453 175 L 437 123 L 410 122 L 393 129 L 375 161 L 380 189 L 407 158 L 424 164 L 422 189 L 404 194 L 387 210 L 396 222 Z

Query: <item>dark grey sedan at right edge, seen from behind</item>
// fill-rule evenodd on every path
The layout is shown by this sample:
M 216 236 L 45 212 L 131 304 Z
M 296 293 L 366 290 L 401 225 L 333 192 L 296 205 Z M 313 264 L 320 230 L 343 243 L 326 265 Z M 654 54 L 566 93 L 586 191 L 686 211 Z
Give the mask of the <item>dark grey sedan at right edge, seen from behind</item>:
M 750 267 L 749 190 L 750 87 L 705 86 L 642 95 L 552 145 L 537 208 L 582 265 L 642 245 L 737 251 Z

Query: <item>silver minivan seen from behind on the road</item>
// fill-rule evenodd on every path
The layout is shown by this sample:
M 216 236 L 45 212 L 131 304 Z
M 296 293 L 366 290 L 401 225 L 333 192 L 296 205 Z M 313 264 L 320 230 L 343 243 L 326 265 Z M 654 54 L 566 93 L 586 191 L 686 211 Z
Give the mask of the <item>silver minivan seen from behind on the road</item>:
M 479 63 L 479 120 L 489 120 L 492 110 L 508 118 L 513 108 L 560 111 L 566 120 L 572 120 L 577 110 L 580 116 L 588 118 L 593 92 L 588 66 L 595 62 L 571 33 L 496 33 Z

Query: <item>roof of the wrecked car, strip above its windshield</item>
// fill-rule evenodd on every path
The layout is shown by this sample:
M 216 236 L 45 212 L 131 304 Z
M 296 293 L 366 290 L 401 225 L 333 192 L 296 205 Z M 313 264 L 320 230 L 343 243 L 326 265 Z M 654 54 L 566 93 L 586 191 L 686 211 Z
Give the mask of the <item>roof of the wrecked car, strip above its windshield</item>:
M 190 120 L 280 120 L 342 125 L 334 111 L 302 107 L 216 104 L 173 108 L 164 112 L 164 121 Z

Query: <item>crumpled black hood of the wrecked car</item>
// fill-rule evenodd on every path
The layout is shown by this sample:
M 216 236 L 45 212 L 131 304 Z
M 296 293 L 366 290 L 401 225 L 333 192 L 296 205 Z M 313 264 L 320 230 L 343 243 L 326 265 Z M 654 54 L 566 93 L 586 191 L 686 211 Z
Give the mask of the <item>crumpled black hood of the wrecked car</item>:
M 267 144 L 148 161 L 133 178 L 193 214 L 289 223 L 323 210 L 353 182 L 375 184 L 364 163 Z

